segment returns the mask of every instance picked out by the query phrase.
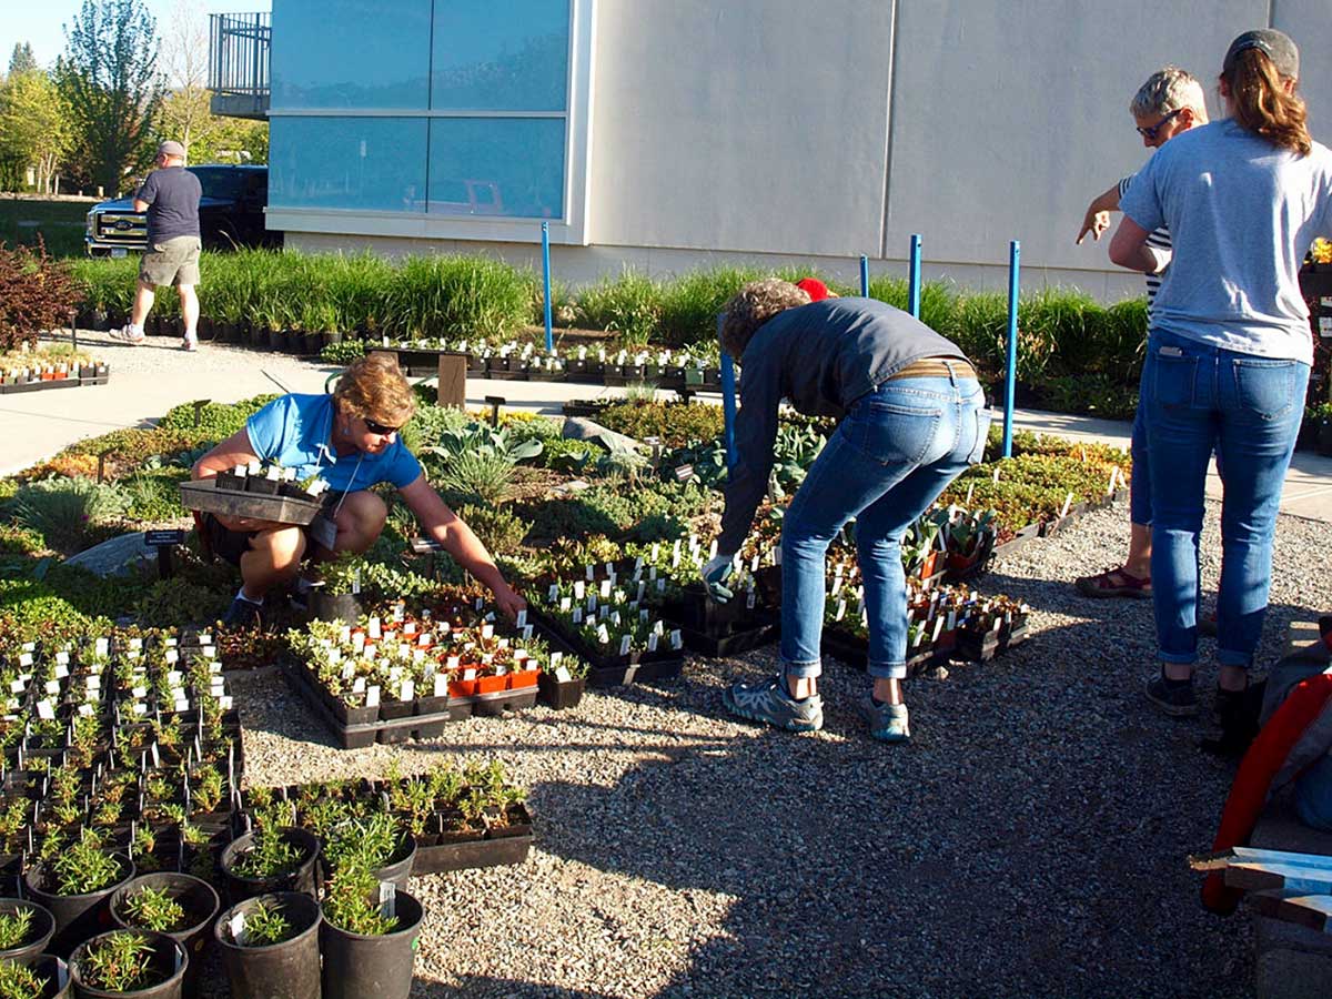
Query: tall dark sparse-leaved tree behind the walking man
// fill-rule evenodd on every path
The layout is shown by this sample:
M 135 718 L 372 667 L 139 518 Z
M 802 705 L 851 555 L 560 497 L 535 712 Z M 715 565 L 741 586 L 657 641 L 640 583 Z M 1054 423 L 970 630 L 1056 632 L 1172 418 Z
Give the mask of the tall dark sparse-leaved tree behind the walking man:
M 65 25 L 56 81 L 72 115 L 72 172 L 108 193 L 152 160 L 163 96 L 156 32 L 144 0 L 84 0 Z

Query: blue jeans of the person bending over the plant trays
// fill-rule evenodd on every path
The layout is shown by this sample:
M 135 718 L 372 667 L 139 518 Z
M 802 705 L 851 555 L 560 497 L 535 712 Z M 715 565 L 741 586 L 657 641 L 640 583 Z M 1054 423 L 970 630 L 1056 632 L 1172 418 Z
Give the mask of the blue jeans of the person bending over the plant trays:
M 870 627 L 871 677 L 906 675 L 902 535 L 984 457 L 990 414 L 975 378 L 899 378 L 856 401 L 801 486 L 782 526 L 782 666 L 822 673 L 829 543 L 852 517 Z

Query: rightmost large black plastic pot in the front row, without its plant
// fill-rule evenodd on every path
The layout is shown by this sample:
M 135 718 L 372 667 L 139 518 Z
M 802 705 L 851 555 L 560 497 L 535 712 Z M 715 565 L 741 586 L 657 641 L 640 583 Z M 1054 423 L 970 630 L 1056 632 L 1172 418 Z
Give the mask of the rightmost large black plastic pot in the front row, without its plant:
M 402 891 L 394 904 L 398 928 L 382 936 L 349 934 L 324 920 L 324 999 L 406 999 L 424 912 Z

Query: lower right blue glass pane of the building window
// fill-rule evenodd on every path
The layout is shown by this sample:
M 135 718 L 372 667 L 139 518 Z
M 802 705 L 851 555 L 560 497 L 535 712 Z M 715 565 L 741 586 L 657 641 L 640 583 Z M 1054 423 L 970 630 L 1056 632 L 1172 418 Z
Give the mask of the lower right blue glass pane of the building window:
M 562 119 L 432 119 L 430 214 L 559 218 Z

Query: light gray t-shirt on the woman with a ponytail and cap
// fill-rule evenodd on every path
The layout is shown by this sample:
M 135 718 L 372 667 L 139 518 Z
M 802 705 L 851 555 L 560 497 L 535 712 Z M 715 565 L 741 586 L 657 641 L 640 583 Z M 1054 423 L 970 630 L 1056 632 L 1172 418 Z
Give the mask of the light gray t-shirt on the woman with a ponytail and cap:
M 1175 244 L 1154 328 L 1312 364 L 1299 269 L 1315 237 L 1332 236 L 1332 151 L 1299 156 L 1213 121 L 1158 149 L 1119 208 L 1148 232 L 1169 226 Z

